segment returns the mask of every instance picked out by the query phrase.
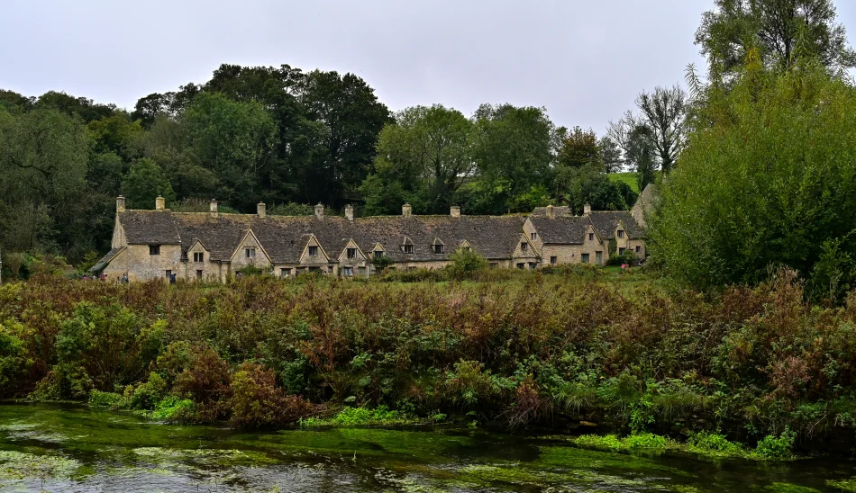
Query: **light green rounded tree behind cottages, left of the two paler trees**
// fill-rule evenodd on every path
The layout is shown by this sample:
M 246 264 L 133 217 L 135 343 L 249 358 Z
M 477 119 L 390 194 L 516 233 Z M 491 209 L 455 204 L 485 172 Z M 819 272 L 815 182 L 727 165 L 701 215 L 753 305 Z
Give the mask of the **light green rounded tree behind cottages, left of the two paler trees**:
M 393 212 L 401 201 L 417 210 L 448 211 L 452 197 L 474 168 L 474 125 L 457 110 L 435 104 L 396 113 L 378 137 L 375 175 L 360 192 L 369 214 Z

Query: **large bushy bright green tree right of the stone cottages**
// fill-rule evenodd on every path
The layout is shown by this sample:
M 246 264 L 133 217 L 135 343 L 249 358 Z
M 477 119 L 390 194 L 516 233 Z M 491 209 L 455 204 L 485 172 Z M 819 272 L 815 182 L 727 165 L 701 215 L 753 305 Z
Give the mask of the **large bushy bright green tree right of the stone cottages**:
M 856 229 L 853 87 L 806 60 L 784 72 L 750 60 L 732 89 L 711 90 L 710 125 L 690 136 L 650 221 L 653 255 L 703 288 L 759 282 L 770 265 L 810 277 L 824 242 L 853 255 L 835 242 Z

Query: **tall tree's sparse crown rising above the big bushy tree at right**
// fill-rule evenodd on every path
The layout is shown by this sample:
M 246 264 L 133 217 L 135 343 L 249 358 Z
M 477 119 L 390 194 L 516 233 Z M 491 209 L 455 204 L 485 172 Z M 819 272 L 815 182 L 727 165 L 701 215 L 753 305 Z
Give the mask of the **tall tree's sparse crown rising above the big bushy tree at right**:
M 715 0 L 715 9 L 702 15 L 696 44 L 716 80 L 739 73 L 753 47 L 767 67 L 790 67 L 797 47 L 825 67 L 856 67 L 832 0 Z

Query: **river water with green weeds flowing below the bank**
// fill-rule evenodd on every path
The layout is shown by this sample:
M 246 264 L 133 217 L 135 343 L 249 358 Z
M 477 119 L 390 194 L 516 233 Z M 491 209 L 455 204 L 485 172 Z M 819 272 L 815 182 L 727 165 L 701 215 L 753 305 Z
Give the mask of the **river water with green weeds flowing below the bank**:
M 2 491 L 841 491 L 845 459 L 702 461 L 470 429 L 242 432 L 84 407 L 0 406 Z

